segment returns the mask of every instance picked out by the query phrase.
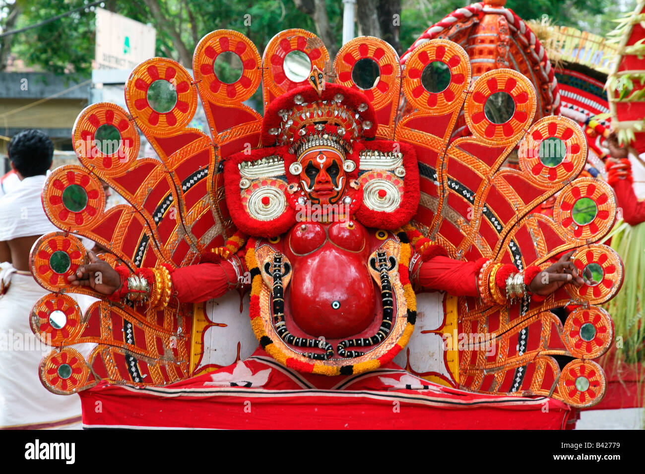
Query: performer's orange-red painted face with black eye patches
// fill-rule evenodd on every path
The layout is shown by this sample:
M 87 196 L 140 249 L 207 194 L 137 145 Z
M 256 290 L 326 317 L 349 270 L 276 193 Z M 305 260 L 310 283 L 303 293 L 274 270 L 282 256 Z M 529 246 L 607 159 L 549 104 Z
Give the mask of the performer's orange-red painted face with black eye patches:
M 345 188 L 342 157 L 334 150 L 312 150 L 300 160 L 300 183 L 312 204 L 336 204 Z

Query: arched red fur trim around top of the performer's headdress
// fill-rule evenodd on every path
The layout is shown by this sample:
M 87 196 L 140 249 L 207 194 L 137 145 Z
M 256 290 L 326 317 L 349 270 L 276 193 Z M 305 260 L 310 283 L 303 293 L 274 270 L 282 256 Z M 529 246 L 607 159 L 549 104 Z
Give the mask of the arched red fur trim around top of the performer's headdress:
M 264 146 L 275 145 L 277 135 L 270 135 L 269 129 L 280 128 L 282 124 L 282 117 L 278 115 L 280 110 L 292 110 L 293 108 L 298 107 L 298 105 L 293 102 L 293 97 L 295 97 L 295 95 L 301 95 L 301 97 L 303 97 L 303 102 L 310 104 L 315 102 L 331 101 L 333 96 L 336 94 L 343 95 L 344 98 L 341 101 L 341 105 L 359 113 L 361 115 L 361 121 L 368 120 L 372 122 L 372 127 L 369 130 L 362 130 L 362 135 L 366 138 L 374 137 L 376 135 L 378 123 L 372 103 L 365 94 L 358 90 L 342 86 L 341 84 L 326 83 L 323 94 L 319 97 L 318 92 L 312 86 L 307 84 L 306 86 L 295 88 L 290 92 L 277 97 L 277 99 L 274 99 L 266 109 L 262 122 L 262 143 Z M 364 112 L 358 112 L 360 104 L 367 104 L 367 110 Z

